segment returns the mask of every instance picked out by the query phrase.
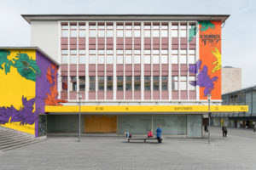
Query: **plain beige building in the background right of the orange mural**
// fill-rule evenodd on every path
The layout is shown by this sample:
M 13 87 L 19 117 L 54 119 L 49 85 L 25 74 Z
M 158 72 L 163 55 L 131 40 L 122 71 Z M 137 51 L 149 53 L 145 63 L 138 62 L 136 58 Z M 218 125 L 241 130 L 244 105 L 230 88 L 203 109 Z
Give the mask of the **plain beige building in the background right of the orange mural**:
M 221 83 L 222 94 L 241 89 L 241 68 L 232 66 L 222 67 Z

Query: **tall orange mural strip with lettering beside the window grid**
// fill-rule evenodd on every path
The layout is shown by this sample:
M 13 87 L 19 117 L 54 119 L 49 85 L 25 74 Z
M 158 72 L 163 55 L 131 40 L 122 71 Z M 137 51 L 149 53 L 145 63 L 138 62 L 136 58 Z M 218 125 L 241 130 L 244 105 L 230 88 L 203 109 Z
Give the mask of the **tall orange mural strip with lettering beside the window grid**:
M 207 94 L 221 99 L 221 22 L 201 21 L 199 26 L 199 59 L 203 65 L 199 78 L 207 79 L 200 86 L 200 99 L 207 99 Z

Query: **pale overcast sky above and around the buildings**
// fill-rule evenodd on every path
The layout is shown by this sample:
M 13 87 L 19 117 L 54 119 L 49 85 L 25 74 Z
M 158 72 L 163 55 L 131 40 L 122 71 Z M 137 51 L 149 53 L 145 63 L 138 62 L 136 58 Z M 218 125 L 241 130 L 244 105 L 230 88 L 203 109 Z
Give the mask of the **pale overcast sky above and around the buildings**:
M 256 85 L 254 0 L 0 0 L 0 46 L 29 46 L 20 14 L 230 14 L 222 29 L 222 65 L 242 69 L 242 88 Z

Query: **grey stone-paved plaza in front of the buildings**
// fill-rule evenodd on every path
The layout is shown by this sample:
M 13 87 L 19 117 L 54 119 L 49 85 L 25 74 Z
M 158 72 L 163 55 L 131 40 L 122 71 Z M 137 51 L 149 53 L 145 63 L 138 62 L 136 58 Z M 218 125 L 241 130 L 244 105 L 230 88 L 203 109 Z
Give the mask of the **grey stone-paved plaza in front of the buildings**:
M 256 169 L 256 133 L 212 128 L 203 139 L 164 139 L 163 144 L 122 137 L 51 137 L 38 144 L 0 152 L 0 169 Z

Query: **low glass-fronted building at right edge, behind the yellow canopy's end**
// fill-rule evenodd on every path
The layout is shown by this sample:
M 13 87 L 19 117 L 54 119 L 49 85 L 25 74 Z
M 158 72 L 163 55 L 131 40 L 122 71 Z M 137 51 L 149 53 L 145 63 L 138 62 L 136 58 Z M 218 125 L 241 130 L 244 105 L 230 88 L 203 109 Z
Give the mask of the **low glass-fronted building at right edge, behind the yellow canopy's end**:
M 222 113 L 214 116 L 215 126 L 253 127 L 256 123 L 256 87 L 241 88 L 222 95 L 222 105 L 248 105 L 246 112 Z M 255 105 L 254 105 L 255 104 Z

